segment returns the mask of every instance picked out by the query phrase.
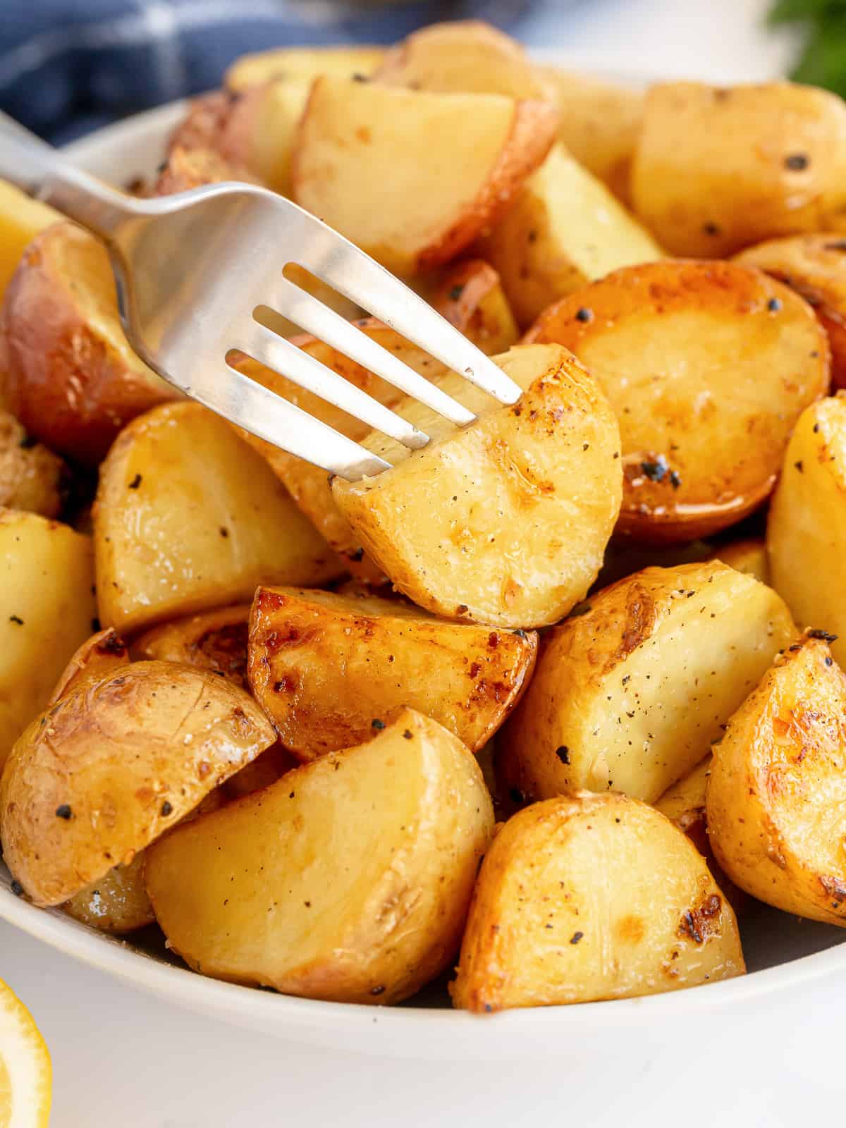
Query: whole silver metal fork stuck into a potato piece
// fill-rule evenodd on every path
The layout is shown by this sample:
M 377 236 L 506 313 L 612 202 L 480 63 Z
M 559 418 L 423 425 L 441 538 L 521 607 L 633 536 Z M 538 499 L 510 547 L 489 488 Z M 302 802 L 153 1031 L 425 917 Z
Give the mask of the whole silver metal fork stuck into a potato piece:
M 246 353 L 411 449 L 429 437 L 256 320 L 270 307 L 458 426 L 475 416 L 283 276 L 298 263 L 502 404 L 520 388 L 422 298 L 319 219 L 249 184 L 135 200 L 0 114 L 0 175 L 106 244 L 130 344 L 179 391 L 349 481 L 389 467 L 232 367 Z

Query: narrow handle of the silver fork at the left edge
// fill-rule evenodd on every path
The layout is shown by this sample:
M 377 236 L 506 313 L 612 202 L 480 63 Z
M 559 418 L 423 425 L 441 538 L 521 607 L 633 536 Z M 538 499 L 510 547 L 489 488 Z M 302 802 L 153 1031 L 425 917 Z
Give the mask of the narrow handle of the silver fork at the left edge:
M 108 239 L 130 213 L 126 197 L 74 168 L 0 111 L 0 176 Z

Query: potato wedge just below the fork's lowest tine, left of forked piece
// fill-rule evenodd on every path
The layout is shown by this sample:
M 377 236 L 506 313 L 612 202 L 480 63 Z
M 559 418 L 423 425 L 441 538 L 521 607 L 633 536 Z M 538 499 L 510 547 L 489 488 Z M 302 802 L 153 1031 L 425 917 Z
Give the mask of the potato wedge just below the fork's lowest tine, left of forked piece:
M 104 626 L 136 631 L 253 598 L 259 583 L 320 583 L 343 569 L 265 461 L 199 404 L 127 426 L 95 506 Z

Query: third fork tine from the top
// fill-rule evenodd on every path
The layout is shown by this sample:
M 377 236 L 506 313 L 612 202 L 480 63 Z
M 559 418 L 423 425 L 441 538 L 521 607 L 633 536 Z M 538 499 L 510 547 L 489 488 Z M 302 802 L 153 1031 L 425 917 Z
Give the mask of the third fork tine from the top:
M 356 388 L 354 384 L 338 376 L 303 349 L 291 344 L 257 321 L 250 321 L 233 335 L 232 349 L 239 349 L 293 384 L 334 404 L 368 426 L 390 435 L 412 450 L 418 450 L 429 442 L 429 435 L 423 431 L 418 431 L 412 423 L 406 422 L 361 388 Z

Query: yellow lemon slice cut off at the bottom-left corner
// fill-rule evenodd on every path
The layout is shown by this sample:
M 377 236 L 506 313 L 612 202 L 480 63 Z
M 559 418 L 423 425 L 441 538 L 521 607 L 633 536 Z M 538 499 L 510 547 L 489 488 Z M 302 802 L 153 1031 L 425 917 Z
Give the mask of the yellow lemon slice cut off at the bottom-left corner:
M 15 993 L 0 979 L 0 1128 L 47 1128 L 50 1051 Z

